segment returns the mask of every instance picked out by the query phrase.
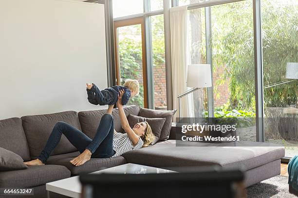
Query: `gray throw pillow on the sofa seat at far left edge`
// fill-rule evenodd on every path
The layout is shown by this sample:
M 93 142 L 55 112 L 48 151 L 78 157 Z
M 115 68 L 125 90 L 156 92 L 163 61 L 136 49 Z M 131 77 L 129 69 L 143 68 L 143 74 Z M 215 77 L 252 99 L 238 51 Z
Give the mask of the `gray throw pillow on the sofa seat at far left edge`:
M 22 170 L 28 168 L 16 153 L 0 147 L 0 171 Z

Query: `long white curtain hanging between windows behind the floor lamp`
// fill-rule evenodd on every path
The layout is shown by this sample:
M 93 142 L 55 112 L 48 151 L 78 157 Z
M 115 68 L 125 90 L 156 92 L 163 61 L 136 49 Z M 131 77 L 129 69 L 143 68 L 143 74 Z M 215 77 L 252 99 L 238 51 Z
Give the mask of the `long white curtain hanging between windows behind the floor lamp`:
M 178 109 L 177 96 L 186 92 L 187 6 L 170 8 L 173 108 Z M 187 117 L 186 97 L 181 100 L 181 115 Z M 176 117 L 179 116 L 177 112 Z M 175 121 L 175 120 L 174 120 Z

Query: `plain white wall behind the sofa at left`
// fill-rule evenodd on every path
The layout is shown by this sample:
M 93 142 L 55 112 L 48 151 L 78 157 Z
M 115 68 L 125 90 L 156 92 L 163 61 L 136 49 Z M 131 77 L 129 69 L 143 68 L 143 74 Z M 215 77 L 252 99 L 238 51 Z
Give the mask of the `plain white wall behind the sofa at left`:
M 104 7 L 71 0 L 0 0 L 0 119 L 103 108 L 86 82 L 107 86 Z

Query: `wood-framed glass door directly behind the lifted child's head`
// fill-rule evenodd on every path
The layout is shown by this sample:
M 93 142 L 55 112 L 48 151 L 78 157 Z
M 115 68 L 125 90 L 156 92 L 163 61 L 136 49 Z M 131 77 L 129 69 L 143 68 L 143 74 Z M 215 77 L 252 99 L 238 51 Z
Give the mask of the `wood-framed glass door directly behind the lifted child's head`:
M 147 65 L 145 60 L 144 21 L 142 17 L 130 20 L 116 21 L 115 49 L 116 79 L 118 85 L 123 85 L 126 79 L 135 79 L 140 84 L 140 94 L 132 97 L 128 105 L 147 106 Z

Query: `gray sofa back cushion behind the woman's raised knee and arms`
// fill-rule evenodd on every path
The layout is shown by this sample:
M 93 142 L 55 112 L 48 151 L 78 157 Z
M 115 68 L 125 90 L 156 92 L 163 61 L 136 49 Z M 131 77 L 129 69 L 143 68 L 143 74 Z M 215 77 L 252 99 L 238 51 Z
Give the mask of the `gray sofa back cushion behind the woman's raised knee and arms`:
M 88 137 L 93 138 L 101 117 L 107 112 L 106 109 L 102 110 L 95 110 L 95 111 L 82 111 L 78 113 L 79 120 L 82 127 L 82 132 L 84 132 Z M 124 106 L 125 115 L 138 115 L 139 113 L 139 106 L 138 105 L 131 105 L 131 106 Z M 118 109 L 113 109 L 112 116 L 114 118 L 114 129 L 116 132 L 123 132 L 121 127 L 120 117 Z

